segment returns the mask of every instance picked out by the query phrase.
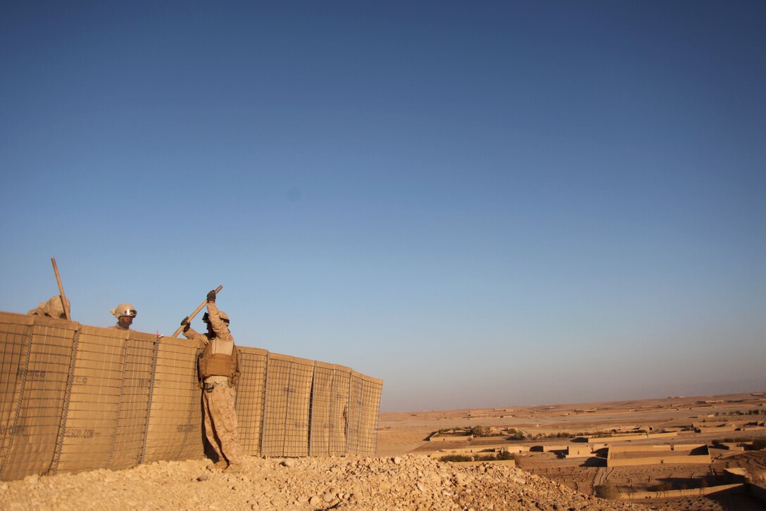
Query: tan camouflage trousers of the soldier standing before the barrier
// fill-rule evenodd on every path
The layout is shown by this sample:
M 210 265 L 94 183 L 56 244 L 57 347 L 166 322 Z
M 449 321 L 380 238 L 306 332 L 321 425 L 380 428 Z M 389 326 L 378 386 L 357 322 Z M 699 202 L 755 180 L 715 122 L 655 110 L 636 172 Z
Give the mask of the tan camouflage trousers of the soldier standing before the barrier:
M 242 463 L 242 447 L 237 436 L 237 412 L 234 396 L 237 391 L 227 384 L 215 385 L 211 392 L 202 391 L 205 409 L 205 437 L 218 454 L 218 459 Z

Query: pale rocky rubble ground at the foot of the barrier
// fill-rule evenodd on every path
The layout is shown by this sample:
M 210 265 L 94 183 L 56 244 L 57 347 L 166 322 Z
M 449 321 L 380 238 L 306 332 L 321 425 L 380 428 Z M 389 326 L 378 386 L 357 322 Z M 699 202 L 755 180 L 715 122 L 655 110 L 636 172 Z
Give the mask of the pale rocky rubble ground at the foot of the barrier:
M 584 496 L 505 465 L 427 457 L 257 458 L 244 470 L 208 460 L 158 462 L 0 483 L 0 509 L 667 509 Z

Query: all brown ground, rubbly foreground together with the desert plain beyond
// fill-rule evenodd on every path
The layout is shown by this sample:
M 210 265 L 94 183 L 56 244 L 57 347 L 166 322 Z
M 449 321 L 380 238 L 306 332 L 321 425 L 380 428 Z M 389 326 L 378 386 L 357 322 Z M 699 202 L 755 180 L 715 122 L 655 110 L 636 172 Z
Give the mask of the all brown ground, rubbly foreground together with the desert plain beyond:
M 725 483 L 724 470 L 736 467 L 763 486 L 766 450 L 712 446 L 714 441 L 766 437 L 764 428 L 754 425 L 763 424 L 764 404 L 766 395 L 746 394 L 381 413 L 377 457 L 250 457 L 244 470 L 231 475 L 208 470 L 208 461 L 197 459 L 29 476 L 0 483 L 0 509 L 764 509 L 762 501 L 741 488 L 673 498 L 667 493 L 633 500 L 596 496 L 604 488 L 628 495 L 678 489 L 702 493 Z M 721 432 L 703 426 L 705 432 L 697 433 L 693 424 L 709 424 Z M 439 430 L 478 426 L 505 434 L 428 440 Z M 508 434 L 509 428 L 514 434 Z M 598 450 L 564 457 L 567 447 L 587 445 L 584 434 L 641 430 L 678 435 L 631 444 L 709 444 L 711 463 L 607 467 Z M 519 434 L 524 438 L 513 439 Z M 496 447 L 521 450 L 516 467 L 431 457 L 440 450 Z

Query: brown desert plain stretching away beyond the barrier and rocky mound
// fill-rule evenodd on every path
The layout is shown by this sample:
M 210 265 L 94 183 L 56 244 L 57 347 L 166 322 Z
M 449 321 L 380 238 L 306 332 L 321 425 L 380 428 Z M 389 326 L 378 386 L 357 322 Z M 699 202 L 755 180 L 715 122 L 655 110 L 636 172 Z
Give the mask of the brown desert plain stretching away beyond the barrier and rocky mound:
M 378 455 L 478 451 L 505 447 L 516 452 L 516 467 L 568 486 L 586 496 L 609 488 L 633 502 L 660 509 L 764 509 L 748 493 L 702 495 L 704 489 L 730 482 L 729 469 L 744 469 L 749 480 L 764 485 L 766 450 L 737 444 L 766 439 L 766 395 L 668 397 L 637 401 L 575 403 L 452 411 L 383 412 L 378 424 Z M 448 432 L 479 428 L 494 436 L 458 437 Z M 441 435 L 431 440 L 434 434 Z M 620 436 L 624 435 L 624 436 Z M 435 441 L 437 438 L 444 441 Z M 624 438 L 624 440 L 621 440 Z M 590 440 L 589 440 L 590 439 Z M 568 456 L 574 448 L 593 445 L 593 452 Z M 705 445 L 709 463 L 664 463 L 607 466 L 607 445 L 646 446 L 646 450 L 684 444 Z M 658 447 L 655 447 L 658 446 Z M 643 447 L 635 447 L 642 449 Z M 676 449 L 676 447 L 667 447 Z M 590 449 L 587 449 L 590 451 Z M 666 458 L 680 457 L 665 451 Z M 624 454 L 624 459 L 640 454 Z M 698 492 L 664 498 L 669 490 Z M 659 492 L 646 498 L 642 492 Z M 664 492 L 664 493 L 663 493 Z M 672 493 L 671 493 L 672 494 Z M 625 498 L 625 497 L 624 497 Z

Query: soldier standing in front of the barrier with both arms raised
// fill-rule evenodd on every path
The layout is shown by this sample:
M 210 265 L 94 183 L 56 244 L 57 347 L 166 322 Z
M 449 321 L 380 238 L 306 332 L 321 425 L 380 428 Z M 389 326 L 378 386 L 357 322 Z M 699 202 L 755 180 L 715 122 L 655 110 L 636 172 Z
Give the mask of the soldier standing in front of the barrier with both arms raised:
M 184 336 L 204 348 L 198 359 L 202 386 L 202 407 L 205 414 L 205 437 L 218 455 L 211 468 L 223 468 L 226 473 L 242 468 L 242 447 L 237 437 L 237 412 L 234 397 L 239 379 L 239 358 L 234 337 L 229 332 L 229 316 L 215 305 L 215 291 L 208 293 L 208 313 L 202 317 L 208 332 L 200 334 L 189 326 L 188 316 L 181 325 Z

